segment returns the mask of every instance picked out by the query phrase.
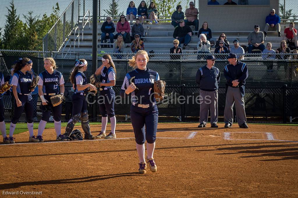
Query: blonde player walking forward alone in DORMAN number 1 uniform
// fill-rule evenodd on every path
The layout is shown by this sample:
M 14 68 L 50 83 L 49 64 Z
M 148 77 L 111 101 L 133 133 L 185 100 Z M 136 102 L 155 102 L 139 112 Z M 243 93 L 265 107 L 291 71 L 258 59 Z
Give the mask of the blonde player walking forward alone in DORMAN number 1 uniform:
M 158 123 L 158 109 L 154 98 L 154 81 L 159 80 L 156 71 L 146 67 L 149 61 L 148 54 L 144 50 L 138 51 L 129 65 L 136 68 L 126 74 L 121 87 L 121 95 L 130 94 L 132 97 L 131 105 L 131 124 L 134 128 L 136 139 L 136 150 L 139 155 L 139 172 L 146 173 L 145 162 L 145 140 L 147 141 L 147 163 L 150 165 L 150 171 L 156 172 L 157 167 L 153 159 L 155 148 L 156 130 Z M 134 78 L 134 83 L 129 84 L 129 79 Z M 136 88 L 138 88 L 136 90 Z M 145 127 L 144 127 L 145 126 Z

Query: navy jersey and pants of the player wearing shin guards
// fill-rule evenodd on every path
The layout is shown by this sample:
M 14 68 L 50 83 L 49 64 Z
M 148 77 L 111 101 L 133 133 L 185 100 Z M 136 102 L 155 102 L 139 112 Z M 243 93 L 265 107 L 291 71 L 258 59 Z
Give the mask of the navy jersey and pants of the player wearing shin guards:
M 87 84 L 86 75 L 77 71 L 75 74 L 75 93 L 72 95 L 72 115 L 80 114 L 83 111 L 87 111 L 87 102 L 86 102 L 86 94 L 89 88 L 84 90 L 77 90 L 77 84 L 85 85 Z

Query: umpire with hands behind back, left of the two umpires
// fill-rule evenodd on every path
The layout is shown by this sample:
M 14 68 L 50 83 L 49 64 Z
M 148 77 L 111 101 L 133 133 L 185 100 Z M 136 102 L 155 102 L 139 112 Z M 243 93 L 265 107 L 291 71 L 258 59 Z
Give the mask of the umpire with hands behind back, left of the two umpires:
M 218 128 L 218 83 L 221 73 L 214 67 L 215 57 L 207 56 L 207 64 L 198 69 L 195 81 L 200 86 L 200 125 L 206 127 L 210 109 L 211 127 Z

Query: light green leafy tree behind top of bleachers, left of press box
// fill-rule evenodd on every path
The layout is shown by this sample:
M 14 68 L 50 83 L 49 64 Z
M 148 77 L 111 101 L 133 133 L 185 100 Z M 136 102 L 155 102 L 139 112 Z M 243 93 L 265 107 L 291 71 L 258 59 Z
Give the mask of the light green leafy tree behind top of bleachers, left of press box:
M 176 11 L 176 6 L 181 5 L 181 0 L 153 0 L 153 2 L 158 9 L 158 13 L 162 16 L 172 16 L 173 12 Z M 147 5 L 149 7 L 150 3 Z

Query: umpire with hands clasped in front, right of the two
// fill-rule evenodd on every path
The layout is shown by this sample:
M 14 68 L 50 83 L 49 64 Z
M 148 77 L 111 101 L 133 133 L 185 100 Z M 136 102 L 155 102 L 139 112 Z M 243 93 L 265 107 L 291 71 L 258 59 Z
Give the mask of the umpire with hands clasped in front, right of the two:
M 232 127 L 233 106 L 235 103 L 237 122 L 240 128 L 248 128 L 244 107 L 244 85 L 248 77 L 247 65 L 237 60 L 236 54 L 229 54 L 230 64 L 224 67 L 226 77 L 226 106 L 224 109 L 225 128 Z

